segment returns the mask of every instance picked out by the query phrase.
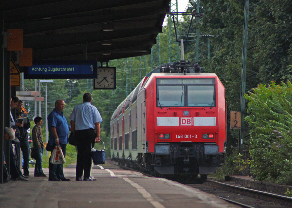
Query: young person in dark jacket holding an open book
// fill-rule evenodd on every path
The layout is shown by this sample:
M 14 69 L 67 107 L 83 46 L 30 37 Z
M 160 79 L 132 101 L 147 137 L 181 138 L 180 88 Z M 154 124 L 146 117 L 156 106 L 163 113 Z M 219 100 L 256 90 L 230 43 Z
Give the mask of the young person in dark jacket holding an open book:
M 23 153 L 23 175 L 30 176 L 28 170 L 30 164 L 30 142 L 28 141 L 27 130 L 30 129 L 30 120 L 27 117 L 27 114 L 23 110 L 23 102 L 19 100 L 18 105 L 16 106 L 16 122 L 18 124 L 18 129 L 20 131 L 19 137 L 19 149 Z

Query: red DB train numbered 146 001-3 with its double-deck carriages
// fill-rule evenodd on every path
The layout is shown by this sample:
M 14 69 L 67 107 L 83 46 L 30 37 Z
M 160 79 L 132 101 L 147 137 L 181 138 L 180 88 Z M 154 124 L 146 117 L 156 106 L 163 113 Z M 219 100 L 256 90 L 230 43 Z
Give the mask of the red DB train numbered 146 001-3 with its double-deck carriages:
M 151 174 L 205 179 L 223 165 L 225 88 L 184 60 L 163 64 L 137 85 L 111 118 L 111 155 Z

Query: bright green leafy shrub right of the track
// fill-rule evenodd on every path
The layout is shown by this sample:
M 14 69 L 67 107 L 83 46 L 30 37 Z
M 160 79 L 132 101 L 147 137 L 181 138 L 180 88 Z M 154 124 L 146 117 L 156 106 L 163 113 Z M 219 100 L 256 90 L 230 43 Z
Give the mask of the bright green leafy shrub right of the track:
M 248 100 L 250 168 L 255 179 L 276 182 L 292 171 L 292 85 L 259 85 Z

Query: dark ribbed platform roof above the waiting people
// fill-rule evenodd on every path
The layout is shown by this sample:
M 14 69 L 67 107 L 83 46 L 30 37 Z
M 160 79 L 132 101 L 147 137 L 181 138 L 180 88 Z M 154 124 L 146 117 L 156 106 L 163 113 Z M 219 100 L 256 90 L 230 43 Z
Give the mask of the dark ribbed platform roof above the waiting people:
M 170 0 L 4 0 L 4 24 L 23 29 L 33 60 L 109 60 L 151 54 Z M 86 52 L 86 53 L 85 53 Z

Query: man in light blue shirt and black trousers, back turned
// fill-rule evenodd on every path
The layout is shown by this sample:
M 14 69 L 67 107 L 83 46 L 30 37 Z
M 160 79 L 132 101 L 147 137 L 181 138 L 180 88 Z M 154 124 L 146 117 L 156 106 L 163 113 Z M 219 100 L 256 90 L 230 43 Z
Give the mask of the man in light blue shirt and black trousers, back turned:
M 100 122 L 102 118 L 99 111 L 93 105 L 92 95 L 87 92 L 83 95 L 83 103 L 75 106 L 69 119 L 72 132 L 77 143 L 76 181 L 92 181 L 91 169 L 91 145 L 100 142 Z M 84 174 L 83 174 L 84 171 Z M 82 179 L 82 175 L 84 178 Z

